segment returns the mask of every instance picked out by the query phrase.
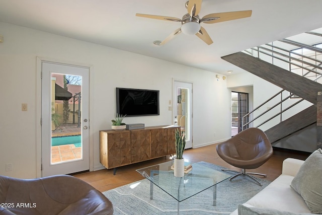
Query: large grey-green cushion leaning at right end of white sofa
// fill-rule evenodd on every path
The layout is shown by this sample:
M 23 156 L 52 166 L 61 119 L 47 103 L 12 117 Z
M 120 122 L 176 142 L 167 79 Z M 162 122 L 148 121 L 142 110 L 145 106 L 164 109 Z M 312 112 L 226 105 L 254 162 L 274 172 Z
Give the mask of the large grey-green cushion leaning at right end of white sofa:
M 322 150 L 314 151 L 291 182 L 312 213 L 322 213 Z

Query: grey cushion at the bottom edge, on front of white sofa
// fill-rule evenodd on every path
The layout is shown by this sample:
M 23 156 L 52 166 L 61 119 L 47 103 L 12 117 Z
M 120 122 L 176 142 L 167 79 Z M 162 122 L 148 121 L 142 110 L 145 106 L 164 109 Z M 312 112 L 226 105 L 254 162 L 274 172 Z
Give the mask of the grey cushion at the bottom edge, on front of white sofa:
M 311 213 L 292 213 L 271 208 L 247 207 L 238 205 L 238 215 L 306 215 Z

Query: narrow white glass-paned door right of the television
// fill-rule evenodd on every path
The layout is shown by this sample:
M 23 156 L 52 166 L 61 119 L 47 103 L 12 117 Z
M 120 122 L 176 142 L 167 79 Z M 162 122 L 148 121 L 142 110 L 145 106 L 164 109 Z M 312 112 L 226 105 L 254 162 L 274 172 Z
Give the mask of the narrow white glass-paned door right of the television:
M 192 83 L 174 81 L 174 124 L 186 135 L 185 149 L 192 148 Z

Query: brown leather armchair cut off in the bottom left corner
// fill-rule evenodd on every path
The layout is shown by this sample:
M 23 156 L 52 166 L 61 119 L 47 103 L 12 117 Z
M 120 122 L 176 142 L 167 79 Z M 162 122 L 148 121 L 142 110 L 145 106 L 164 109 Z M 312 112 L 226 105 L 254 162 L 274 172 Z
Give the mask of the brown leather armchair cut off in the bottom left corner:
M 113 214 L 113 204 L 81 179 L 56 175 L 36 179 L 0 176 L 0 214 Z

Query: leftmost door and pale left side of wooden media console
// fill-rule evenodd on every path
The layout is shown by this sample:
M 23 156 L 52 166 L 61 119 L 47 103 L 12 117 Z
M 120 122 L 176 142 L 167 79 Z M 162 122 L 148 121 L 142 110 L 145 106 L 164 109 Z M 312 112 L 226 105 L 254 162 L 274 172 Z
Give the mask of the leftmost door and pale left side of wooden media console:
M 100 132 L 100 162 L 107 169 L 131 164 L 131 132 Z

